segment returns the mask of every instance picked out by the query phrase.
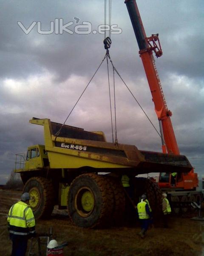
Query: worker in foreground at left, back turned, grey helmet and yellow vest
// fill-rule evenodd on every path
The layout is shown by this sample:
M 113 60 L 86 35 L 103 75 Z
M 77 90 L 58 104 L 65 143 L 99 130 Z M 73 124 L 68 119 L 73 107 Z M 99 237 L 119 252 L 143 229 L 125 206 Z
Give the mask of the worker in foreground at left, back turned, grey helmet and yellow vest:
M 28 192 L 21 195 L 21 201 L 12 205 L 8 212 L 8 231 L 12 240 L 11 256 L 25 256 L 28 239 L 35 236 L 35 219 L 29 207 Z

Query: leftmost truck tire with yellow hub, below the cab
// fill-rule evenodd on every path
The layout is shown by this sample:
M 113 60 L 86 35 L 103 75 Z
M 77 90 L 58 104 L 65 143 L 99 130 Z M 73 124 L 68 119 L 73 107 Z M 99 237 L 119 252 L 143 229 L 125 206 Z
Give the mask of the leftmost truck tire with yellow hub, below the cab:
M 51 180 L 32 177 L 26 182 L 23 192 L 30 193 L 29 203 L 36 219 L 50 217 L 54 208 L 54 189 Z

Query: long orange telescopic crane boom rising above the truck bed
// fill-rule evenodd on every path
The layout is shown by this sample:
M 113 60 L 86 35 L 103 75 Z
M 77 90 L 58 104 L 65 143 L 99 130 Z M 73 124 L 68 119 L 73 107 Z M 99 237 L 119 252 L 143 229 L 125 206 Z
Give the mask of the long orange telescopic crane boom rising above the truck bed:
M 152 93 L 155 111 L 159 121 L 161 121 L 162 124 L 164 141 L 166 145 L 166 147 L 165 145 L 162 145 L 162 150 L 164 153 L 166 153 L 167 150 L 170 154 L 180 154 L 170 119 L 172 113 L 167 108 L 161 82 L 159 80 L 159 75 L 156 70 L 156 65 L 153 58 L 153 51 L 155 52 L 156 57 L 160 57 L 162 55 L 158 37 L 159 34 L 152 35 L 151 37 L 147 38 L 136 0 L 125 0 L 125 3 L 136 35 L 137 43 L 139 46 L 139 54 L 142 58 L 147 81 Z

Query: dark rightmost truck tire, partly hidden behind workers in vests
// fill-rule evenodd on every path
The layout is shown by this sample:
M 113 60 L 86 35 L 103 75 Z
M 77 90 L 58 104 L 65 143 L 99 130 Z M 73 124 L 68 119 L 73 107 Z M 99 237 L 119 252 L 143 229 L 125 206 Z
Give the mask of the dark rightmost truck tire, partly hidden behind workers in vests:
M 142 194 L 147 196 L 152 209 L 153 217 L 159 217 L 162 213 L 162 192 L 157 183 L 144 177 L 136 177 L 133 179 L 134 186 L 134 202 L 137 205 Z

